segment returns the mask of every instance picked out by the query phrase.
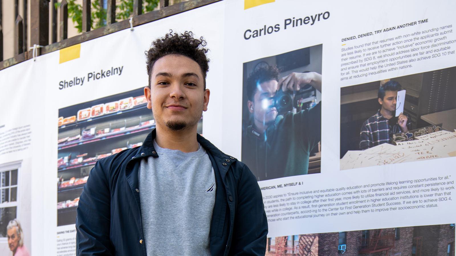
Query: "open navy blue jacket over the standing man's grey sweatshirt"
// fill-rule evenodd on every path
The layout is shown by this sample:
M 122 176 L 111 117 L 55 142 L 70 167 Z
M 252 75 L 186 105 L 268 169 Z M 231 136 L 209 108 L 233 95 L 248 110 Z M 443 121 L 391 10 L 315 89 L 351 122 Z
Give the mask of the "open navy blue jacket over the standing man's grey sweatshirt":
M 154 138 L 155 130 L 141 147 L 101 159 L 90 171 L 76 216 L 77 255 L 146 256 L 138 170 L 140 159 L 159 157 Z M 245 164 L 207 139 L 197 135 L 197 140 L 211 159 L 217 184 L 211 254 L 264 256 L 268 223 L 256 178 Z

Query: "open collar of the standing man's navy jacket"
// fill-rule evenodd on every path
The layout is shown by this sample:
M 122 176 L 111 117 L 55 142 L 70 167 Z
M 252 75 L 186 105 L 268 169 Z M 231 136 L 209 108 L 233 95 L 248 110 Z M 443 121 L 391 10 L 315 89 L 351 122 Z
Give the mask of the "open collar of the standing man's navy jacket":
M 142 146 L 139 148 L 139 150 L 135 154 L 136 159 L 142 158 L 142 157 L 148 157 L 148 156 L 159 157 L 157 152 L 155 151 L 154 143 L 153 143 L 156 135 L 157 134 L 156 134 L 155 129 L 153 129 L 147 135 Z M 206 138 L 202 137 L 199 134 L 197 134 L 197 141 L 201 144 L 201 146 L 204 149 L 206 149 L 206 152 L 208 154 L 211 154 L 213 156 L 215 163 L 212 163 L 212 165 L 217 164 L 218 170 L 220 171 L 220 174 L 221 174 L 222 180 L 223 180 L 225 178 L 225 174 L 228 171 L 228 168 L 237 159 L 235 159 L 234 157 L 232 157 L 230 155 L 223 153 L 220 149 L 218 149 L 211 142 L 209 142 Z M 214 170 L 215 170 L 215 168 L 214 168 Z

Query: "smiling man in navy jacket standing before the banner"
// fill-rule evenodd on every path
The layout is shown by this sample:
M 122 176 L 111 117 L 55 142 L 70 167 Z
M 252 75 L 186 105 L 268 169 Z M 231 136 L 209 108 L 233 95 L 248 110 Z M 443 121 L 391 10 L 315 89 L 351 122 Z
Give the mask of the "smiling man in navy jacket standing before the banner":
M 268 224 L 249 168 L 197 134 L 207 110 L 206 42 L 155 40 L 144 88 L 156 128 L 97 162 L 81 194 L 78 255 L 264 255 Z

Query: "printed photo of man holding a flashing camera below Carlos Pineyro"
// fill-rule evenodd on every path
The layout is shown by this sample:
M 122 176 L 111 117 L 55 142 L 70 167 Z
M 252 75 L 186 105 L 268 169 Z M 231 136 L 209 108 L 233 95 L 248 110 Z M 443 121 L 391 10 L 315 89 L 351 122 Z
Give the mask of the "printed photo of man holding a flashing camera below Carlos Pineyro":
M 296 56 L 291 65 L 264 58 L 244 80 L 242 161 L 258 181 L 308 174 L 309 157 L 319 154 L 321 74 L 308 71 L 311 60 L 295 67 Z

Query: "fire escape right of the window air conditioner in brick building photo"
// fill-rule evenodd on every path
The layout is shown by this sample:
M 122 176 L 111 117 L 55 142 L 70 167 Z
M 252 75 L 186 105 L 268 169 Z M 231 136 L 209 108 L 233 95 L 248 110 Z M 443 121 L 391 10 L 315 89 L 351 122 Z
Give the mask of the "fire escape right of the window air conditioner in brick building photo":
M 374 252 L 385 252 L 385 256 L 388 255 L 389 250 L 394 249 L 394 234 L 382 235 L 382 230 L 375 230 L 373 236 L 367 239 L 362 239 L 362 248 L 359 253 L 374 253 Z

